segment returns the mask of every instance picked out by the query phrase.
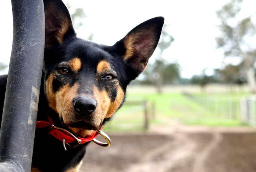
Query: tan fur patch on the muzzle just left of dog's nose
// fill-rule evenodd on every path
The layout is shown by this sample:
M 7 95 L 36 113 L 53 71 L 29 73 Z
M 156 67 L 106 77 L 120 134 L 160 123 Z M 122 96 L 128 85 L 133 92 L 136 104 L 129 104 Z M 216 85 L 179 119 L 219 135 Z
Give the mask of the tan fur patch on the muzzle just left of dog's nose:
M 69 85 L 63 86 L 59 91 L 56 93 L 56 109 L 59 115 L 62 115 L 62 118 L 65 120 L 69 120 L 72 118 L 70 115 L 73 111 L 73 99 L 77 95 L 79 84 L 75 83 L 72 87 Z

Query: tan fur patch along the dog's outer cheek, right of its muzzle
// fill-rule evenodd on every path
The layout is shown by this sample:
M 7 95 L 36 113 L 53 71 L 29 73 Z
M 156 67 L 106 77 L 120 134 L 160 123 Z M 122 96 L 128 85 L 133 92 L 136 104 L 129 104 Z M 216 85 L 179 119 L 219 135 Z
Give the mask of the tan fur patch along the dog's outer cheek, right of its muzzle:
M 118 86 L 117 87 L 117 97 L 116 97 L 116 100 L 114 102 L 110 103 L 110 106 L 109 106 L 109 109 L 107 111 L 107 115 L 106 115 L 105 118 L 109 118 L 110 116 L 112 116 L 117 111 L 117 108 L 122 103 L 123 96 L 124 96 L 123 89 L 120 86 Z

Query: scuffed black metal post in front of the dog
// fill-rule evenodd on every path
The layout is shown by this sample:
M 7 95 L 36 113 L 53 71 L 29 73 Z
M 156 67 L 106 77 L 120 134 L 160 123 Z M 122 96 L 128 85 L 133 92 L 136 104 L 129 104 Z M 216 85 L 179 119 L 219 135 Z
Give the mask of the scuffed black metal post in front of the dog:
M 43 0 L 11 0 L 13 44 L 0 133 L 0 171 L 31 169 L 44 53 Z

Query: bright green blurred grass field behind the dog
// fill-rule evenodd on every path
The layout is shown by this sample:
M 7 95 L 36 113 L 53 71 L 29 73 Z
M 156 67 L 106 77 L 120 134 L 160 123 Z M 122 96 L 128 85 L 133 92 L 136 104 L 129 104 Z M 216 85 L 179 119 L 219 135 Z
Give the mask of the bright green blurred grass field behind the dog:
M 236 94 L 199 94 L 182 93 L 156 94 L 144 92 L 128 92 L 124 106 L 106 124 L 105 131 L 141 131 L 143 130 L 144 110 L 142 105 L 129 105 L 132 101 L 148 100 L 155 102 L 155 119 L 151 125 L 171 125 L 180 122 L 187 125 L 207 126 L 244 126 L 239 120 L 240 99 L 246 93 Z M 149 115 L 151 114 L 149 103 Z

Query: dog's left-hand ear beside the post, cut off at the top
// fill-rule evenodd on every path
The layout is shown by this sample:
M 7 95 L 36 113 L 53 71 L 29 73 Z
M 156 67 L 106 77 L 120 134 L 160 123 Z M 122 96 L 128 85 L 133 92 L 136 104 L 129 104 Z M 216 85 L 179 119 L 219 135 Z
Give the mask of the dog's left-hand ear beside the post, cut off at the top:
M 61 44 L 69 35 L 75 35 L 69 11 L 61 0 L 44 0 L 45 47 Z

